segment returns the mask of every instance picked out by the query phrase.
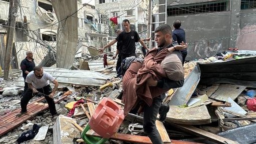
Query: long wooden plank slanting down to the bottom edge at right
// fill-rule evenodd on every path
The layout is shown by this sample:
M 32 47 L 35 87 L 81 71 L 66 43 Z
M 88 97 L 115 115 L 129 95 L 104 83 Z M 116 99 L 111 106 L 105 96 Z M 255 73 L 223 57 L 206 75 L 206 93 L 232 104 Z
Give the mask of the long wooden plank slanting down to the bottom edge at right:
M 171 125 L 173 125 L 174 127 L 180 128 L 185 132 L 189 132 L 193 135 L 200 136 L 200 137 L 203 137 L 205 139 L 214 141 L 215 143 L 218 143 L 218 144 L 239 144 L 236 141 L 226 139 L 224 137 L 215 135 L 213 133 L 204 131 L 202 129 L 193 127 L 191 125 L 177 125 L 177 124 L 172 124 L 172 123 L 171 123 Z

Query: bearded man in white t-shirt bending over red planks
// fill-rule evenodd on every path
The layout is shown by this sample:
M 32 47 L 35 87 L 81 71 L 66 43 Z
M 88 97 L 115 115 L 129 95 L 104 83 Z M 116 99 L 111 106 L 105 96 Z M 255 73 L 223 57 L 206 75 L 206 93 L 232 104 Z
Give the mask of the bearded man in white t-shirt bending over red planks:
M 21 112 L 17 116 L 21 116 L 27 112 L 27 104 L 38 92 L 45 94 L 45 99 L 49 105 L 50 113 L 53 117 L 57 117 L 55 108 L 55 102 L 53 100 L 54 93 L 56 92 L 59 83 L 47 72 L 44 72 L 41 66 L 36 66 L 27 77 L 26 82 L 28 83 L 29 89 L 26 90 L 24 96 L 20 101 Z M 54 88 L 50 87 L 49 82 L 54 83 Z

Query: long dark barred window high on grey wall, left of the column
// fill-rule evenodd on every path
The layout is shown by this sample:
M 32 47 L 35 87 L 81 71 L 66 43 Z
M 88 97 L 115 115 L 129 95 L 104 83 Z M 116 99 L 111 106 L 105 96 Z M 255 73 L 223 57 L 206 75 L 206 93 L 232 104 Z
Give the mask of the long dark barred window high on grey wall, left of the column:
M 200 4 L 172 5 L 167 8 L 167 16 L 200 14 L 227 11 L 227 1 L 215 1 Z

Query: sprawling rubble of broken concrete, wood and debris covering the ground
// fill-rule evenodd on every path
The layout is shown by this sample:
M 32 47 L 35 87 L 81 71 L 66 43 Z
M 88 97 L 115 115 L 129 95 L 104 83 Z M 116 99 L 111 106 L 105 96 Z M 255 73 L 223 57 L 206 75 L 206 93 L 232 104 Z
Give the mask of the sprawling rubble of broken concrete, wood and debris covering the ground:
M 200 64 L 220 64 L 253 57 L 255 57 L 255 54 L 248 54 L 244 51 L 226 51 L 214 57 L 186 62 L 184 69 L 187 81 L 185 80 L 183 87 L 186 87 L 189 92 L 177 88 L 166 93 L 163 102 L 170 105 L 170 110 L 164 122 L 157 121 L 157 128 L 161 131 L 162 140 L 164 142 L 172 141 L 173 143 L 182 140 L 184 143 L 212 144 L 226 143 L 226 141 L 228 143 L 241 143 L 240 140 L 244 140 L 244 143 L 249 143 L 244 138 L 246 135 L 241 134 L 240 138 L 236 138 L 231 133 L 234 131 L 239 134 L 242 133 L 243 129 L 253 129 L 255 127 L 256 112 L 248 108 L 248 100 L 254 99 L 256 96 L 255 87 L 229 82 L 202 84 L 200 78 L 201 80 L 204 78 L 204 71 Z M 111 58 L 108 57 L 108 59 Z M 92 64 L 95 61 L 101 62 L 96 64 L 98 67 Z M 87 62 L 87 64 L 84 64 L 84 62 Z M 87 65 L 91 71 L 94 69 L 110 78 L 106 79 L 105 84 L 101 86 L 93 86 L 90 83 L 80 85 L 76 84 L 75 81 L 69 81 L 68 85 L 58 89 L 54 97 L 54 100 L 59 100 L 67 96 L 56 103 L 56 110 L 59 115 L 57 120 L 53 120 L 49 110 L 43 110 L 22 125 L 17 125 L 12 131 L 2 135 L 0 137 L 1 144 L 15 143 L 22 133 L 31 131 L 34 124 L 40 127 L 39 134 L 34 136 L 33 139 L 23 142 L 23 144 L 80 144 L 83 143 L 81 133 L 103 97 L 112 99 L 123 108 L 120 100 L 122 83 L 120 78 L 114 77 L 116 73 L 114 63 L 103 68 L 102 57 L 87 56 L 76 59 L 75 63 L 74 65 L 78 69 L 86 69 L 83 67 Z M 196 73 L 195 69 L 198 68 L 198 65 L 201 69 L 199 73 L 201 77 L 197 78 L 193 76 L 193 73 Z M 193 80 L 188 81 L 191 77 L 193 77 Z M 17 78 L 18 76 L 15 75 L 14 78 L 8 81 L 1 80 L 0 117 L 20 108 L 22 87 L 14 86 Z M 188 82 L 195 84 L 195 87 L 187 87 L 186 83 Z M 10 94 L 7 94 L 8 96 L 3 95 L 4 92 L 8 91 L 10 91 Z M 177 94 L 180 94 L 178 98 L 182 102 L 181 104 L 178 104 L 175 99 Z M 42 96 L 35 96 L 30 102 L 39 98 L 42 98 Z M 41 103 L 46 103 L 46 101 L 42 100 Z M 97 136 L 97 133 L 87 132 L 86 135 Z M 125 117 L 115 136 L 110 137 L 106 143 L 147 143 L 148 139 L 143 141 L 139 136 L 146 136 L 143 133 L 142 117 L 129 114 Z M 129 139 L 125 139 L 125 137 Z M 201 137 L 204 137 L 204 139 Z M 132 140 L 136 140 L 136 142 Z M 209 142 L 209 140 L 213 142 Z M 256 139 L 253 140 L 256 141 Z

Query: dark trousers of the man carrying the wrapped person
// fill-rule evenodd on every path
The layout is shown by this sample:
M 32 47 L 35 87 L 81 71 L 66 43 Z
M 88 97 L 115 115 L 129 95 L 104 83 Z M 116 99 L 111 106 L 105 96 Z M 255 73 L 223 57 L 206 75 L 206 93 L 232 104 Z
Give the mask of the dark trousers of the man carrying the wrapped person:
M 155 97 L 153 99 L 152 105 L 144 105 L 144 117 L 143 117 L 143 129 L 147 136 L 150 138 L 153 144 L 163 144 L 161 136 L 157 130 L 155 121 L 157 120 L 157 114 L 162 104 L 163 98 L 165 98 L 165 93 L 161 96 Z

